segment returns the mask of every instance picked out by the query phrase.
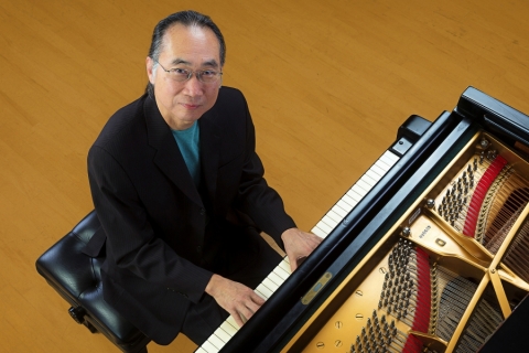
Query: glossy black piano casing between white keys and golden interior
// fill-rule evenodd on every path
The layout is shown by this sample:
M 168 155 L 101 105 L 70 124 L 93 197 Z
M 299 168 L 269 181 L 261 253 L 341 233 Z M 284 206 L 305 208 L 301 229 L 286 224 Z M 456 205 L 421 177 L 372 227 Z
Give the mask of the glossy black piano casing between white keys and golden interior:
M 220 352 L 279 352 L 479 129 L 512 147 L 529 141 L 529 117 L 473 87 L 432 124 L 410 117 L 390 147 L 402 156 L 397 164 Z M 301 298 L 325 272 L 332 279 L 303 304 Z

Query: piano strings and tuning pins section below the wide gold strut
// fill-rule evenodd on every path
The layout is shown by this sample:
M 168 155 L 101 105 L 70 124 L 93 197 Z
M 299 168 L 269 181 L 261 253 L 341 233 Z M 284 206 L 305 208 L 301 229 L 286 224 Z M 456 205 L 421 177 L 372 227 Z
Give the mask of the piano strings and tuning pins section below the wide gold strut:
M 429 352 L 409 330 L 450 341 L 477 286 L 431 263 L 427 252 L 403 238 L 389 254 L 388 269 L 378 302 L 382 313 L 373 311 L 350 352 Z

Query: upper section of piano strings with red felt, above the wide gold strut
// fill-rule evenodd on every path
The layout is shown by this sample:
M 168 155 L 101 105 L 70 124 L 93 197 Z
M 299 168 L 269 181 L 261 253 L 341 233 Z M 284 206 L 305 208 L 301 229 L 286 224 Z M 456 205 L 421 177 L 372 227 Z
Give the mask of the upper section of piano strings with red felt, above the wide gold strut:
M 496 255 L 528 202 L 529 182 L 493 149 L 481 151 L 468 162 L 447 188 L 438 213 Z M 523 226 L 503 259 L 525 281 L 529 281 L 527 233 Z

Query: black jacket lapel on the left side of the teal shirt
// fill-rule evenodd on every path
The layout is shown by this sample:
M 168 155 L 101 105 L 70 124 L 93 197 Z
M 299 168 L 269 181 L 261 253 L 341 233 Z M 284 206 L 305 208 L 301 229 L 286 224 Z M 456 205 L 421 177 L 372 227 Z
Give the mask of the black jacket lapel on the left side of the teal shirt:
M 173 133 L 163 119 L 154 99 L 145 98 L 143 106 L 149 145 L 156 150 L 154 164 L 193 202 L 203 206 Z M 202 137 L 201 137 L 202 140 Z

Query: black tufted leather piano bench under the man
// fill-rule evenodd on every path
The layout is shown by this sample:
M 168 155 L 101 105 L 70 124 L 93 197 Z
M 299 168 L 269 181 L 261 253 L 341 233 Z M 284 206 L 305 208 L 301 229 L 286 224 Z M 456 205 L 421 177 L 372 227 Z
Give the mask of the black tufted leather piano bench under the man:
M 72 306 L 68 312 L 77 323 L 102 333 L 122 352 L 147 353 L 151 340 L 102 299 L 105 256 L 82 253 L 99 227 L 93 211 L 36 260 L 36 270 Z

